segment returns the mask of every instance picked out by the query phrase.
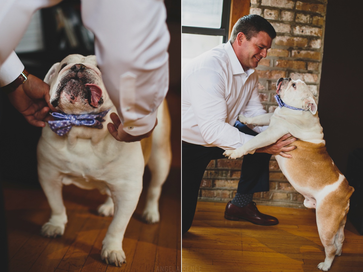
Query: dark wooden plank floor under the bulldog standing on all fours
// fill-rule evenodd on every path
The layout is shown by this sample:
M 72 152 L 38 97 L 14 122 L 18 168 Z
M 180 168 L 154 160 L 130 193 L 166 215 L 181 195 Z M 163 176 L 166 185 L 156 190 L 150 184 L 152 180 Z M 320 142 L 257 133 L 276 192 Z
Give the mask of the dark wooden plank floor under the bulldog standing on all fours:
M 180 168 L 171 169 L 160 199 L 160 222 L 140 220 L 145 187 L 127 226 L 123 249 L 127 263 L 121 268 L 101 260 L 102 240 L 112 218 L 96 214 L 105 196 L 97 190 L 64 187 L 68 214 L 65 233 L 59 238 L 40 235 L 50 209 L 41 188 L 4 184 L 10 272 L 113 272 L 160 271 L 181 266 L 180 245 Z M 0 269 L 1 270 L 1 269 Z M 164 269 L 165 270 L 165 269 Z

